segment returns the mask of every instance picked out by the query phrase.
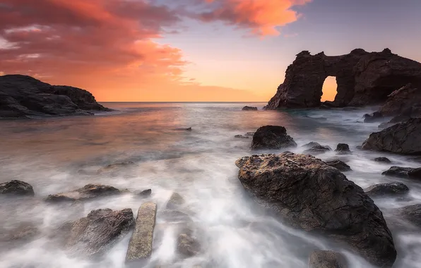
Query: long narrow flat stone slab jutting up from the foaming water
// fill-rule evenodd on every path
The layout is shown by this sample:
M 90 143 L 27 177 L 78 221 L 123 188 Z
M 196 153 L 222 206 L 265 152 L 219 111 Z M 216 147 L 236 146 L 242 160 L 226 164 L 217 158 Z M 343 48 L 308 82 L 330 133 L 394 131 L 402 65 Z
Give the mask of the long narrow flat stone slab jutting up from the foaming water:
M 136 226 L 127 249 L 126 262 L 146 260 L 152 255 L 156 209 L 156 203 L 153 202 L 144 203 L 139 207 Z

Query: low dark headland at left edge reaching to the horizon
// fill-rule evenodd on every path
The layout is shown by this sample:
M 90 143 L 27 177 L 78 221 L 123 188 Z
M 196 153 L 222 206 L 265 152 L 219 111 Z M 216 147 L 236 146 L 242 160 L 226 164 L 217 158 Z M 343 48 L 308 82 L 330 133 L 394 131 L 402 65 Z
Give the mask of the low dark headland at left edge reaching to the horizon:
M 112 111 L 77 87 L 49 85 L 26 75 L 0 76 L 0 118 L 93 115 Z

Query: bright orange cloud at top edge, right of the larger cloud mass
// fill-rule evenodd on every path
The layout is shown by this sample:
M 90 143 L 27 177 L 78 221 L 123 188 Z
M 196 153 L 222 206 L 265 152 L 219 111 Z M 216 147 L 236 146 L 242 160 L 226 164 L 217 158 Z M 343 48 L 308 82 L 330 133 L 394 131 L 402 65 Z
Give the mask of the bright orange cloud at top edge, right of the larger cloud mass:
M 204 21 L 223 20 L 249 28 L 254 35 L 279 35 L 277 29 L 298 19 L 292 6 L 312 0 L 205 0 L 214 4 L 213 11 L 201 13 Z

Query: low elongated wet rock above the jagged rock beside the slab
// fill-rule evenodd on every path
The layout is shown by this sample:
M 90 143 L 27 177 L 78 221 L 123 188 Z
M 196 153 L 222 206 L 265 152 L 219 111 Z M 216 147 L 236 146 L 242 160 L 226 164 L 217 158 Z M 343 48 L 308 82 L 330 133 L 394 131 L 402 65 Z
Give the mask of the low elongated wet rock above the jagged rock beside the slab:
M 87 184 L 77 190 L 70 192 L 48 195 L 45 199 L 48 202 L 83 201 L 108 195 L 119 195 L 121 191 L 109 185 Z

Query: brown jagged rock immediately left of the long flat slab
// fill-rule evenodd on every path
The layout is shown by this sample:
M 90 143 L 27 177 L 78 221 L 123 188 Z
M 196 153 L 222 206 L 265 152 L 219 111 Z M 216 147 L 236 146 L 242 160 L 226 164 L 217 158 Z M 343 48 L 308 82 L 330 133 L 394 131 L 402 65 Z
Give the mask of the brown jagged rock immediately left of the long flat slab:
M 63 224 L 57 238 L 72 256 L 98 257 L 126 235 L 133 225 L 131 209 L 97 209 L 88 217 Z

